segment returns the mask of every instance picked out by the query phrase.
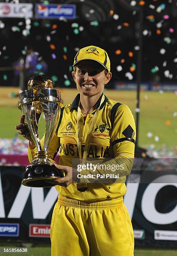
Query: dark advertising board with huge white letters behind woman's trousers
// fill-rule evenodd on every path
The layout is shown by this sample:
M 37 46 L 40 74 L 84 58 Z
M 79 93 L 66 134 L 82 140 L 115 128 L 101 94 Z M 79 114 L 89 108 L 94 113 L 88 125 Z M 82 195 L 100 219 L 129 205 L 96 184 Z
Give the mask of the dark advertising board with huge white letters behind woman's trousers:
M 135 245 L 176 246 L 177 165 L 176 162 L 170 163 L 167 170 L 166 167 L 163 169 L 161 162 L 161 171 L 157 172 L 154 167 L 150 172 L 149 161 L 144 165 L 143 174 L 137 164 L 126 182 L 124 203 L 132 220 Z M 52 211 L 58 192 L 55 187 L 23 186 L 24 170 L 22 166 L 0 166 L 1 241 L 49 242 Z

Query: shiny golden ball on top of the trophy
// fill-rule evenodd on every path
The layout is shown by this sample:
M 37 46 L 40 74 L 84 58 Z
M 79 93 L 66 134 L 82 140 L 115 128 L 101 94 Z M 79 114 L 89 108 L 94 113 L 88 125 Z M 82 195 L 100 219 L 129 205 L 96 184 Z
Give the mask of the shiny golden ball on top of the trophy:
M 33 77 L 30 78 L 28 82 L 28 90 L 30 89 L 53 89 L 53 83 L 50 77 L 47 77 L 43 74 L 35 74 Z

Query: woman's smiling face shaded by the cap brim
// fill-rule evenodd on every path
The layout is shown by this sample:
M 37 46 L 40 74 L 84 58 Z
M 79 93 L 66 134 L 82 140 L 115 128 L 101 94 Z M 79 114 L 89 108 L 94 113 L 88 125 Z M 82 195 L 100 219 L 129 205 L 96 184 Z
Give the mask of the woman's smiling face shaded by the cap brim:
M 104 85 L 111 79 L 111 72 L 106 73 L 106 69 L 93 60 L 83 60 L 72 72 L 76 82 L 77 90 L 85 96 L 101 95 Z

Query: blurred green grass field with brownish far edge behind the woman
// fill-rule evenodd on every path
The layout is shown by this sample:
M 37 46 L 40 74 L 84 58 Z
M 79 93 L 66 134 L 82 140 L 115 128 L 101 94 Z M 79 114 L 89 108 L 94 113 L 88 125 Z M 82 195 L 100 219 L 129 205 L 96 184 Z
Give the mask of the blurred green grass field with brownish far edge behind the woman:
M 72 102 L 77 94 L 75 89 L 59 89 L 62 93 L 64 104 Z M 15 125 L 19 123 L 20 110 L 17 107 L 18 97 L 8 97 L 11 92 L 18 93 L 18 88 L 0 88 L 0 138 L 13 138 L 16 136 Z M 136 92 L 106 90 L 105 94 L 113 100 L 129 106 L 136 120 Z M 141 92 L 139 114 L 139 146 L 147 148 L 153 144 L 155 148 L 176 146 L 177 136 L 177 95 L 174 92 Z M 147 133 L 152 137 L 148 138 Z M 155 141 L 155 136 L 159 141 Z

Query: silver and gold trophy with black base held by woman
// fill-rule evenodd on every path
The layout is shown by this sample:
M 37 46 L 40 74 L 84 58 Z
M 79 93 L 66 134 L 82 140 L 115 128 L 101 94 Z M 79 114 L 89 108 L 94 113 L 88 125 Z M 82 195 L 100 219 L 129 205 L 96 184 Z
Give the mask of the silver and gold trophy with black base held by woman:
M 52 81 L 45 75 L 36 74 L 28 82 L 28 90 L 20 93 L 18 108 L 25 115 L 30 136 L 37 152 L 34 160 L 25 168 L 22 184 L 28 187 L 52 187 L 50 181 L 65 176 L 63 170 L 56 169 L 48 146 L 53 137 L 60 116 L 63 100 L 61 92 L 53 89 Z M 38 135 L 38 124 L 44 113 L 46 119 L 43 147 Z

